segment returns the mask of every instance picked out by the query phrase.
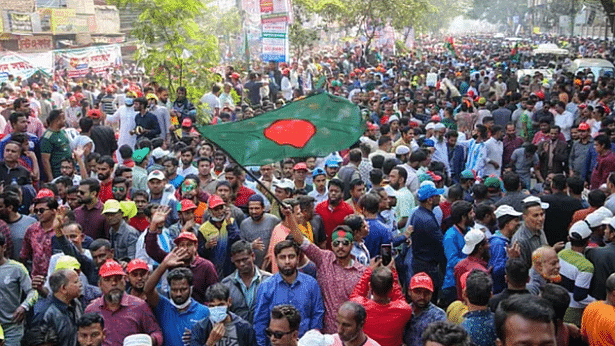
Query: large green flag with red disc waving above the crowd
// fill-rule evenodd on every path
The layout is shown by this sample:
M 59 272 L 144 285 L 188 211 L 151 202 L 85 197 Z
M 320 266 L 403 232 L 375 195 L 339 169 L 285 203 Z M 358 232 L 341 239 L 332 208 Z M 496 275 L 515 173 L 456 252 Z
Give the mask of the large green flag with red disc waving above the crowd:
M 327 156 L 354 144 L 365 130 L 359 107 L 320 93 L 250 119 L 197 130 L 243 166 L 287 157 Z

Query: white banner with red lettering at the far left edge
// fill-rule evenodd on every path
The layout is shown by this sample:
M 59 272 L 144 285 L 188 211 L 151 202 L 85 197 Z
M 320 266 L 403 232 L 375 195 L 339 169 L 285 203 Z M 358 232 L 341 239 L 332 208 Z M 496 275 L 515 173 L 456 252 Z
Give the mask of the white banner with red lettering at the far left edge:
M 10 74 L 16 78 L 27 79 L 37 71 L 41 71 L 51 76 L 52 54 L 52 52 L 17 54 L 9 51 L 0 53 L 0 82 L 7 81 Z

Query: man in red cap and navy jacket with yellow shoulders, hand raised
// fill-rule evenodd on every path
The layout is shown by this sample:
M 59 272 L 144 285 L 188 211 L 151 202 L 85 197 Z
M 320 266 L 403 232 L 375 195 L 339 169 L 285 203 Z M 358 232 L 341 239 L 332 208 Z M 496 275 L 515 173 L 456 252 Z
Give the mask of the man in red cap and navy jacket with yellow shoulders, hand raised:
M 199 228 L 199 255 L 210 260 L 216 267 L 219 277 L 233 271 L 230 261 L 231 244 L 239 240 L 239 230 L 231 210 L 217 195 L 207 201 L 211 217 Z

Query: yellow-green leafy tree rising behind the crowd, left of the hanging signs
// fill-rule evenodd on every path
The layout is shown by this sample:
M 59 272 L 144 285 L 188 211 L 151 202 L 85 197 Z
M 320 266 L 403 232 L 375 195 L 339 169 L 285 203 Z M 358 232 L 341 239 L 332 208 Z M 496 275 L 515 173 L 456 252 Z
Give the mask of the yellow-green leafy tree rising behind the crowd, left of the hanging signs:
M 132 35 L 141 41 L 135 58 L 174 95 L 178 86 L 198 99 L 210 88 L 220 60 L 218 39 L 197 21 L 208 10 L 200 0 L 113 0 L 140 13 Z

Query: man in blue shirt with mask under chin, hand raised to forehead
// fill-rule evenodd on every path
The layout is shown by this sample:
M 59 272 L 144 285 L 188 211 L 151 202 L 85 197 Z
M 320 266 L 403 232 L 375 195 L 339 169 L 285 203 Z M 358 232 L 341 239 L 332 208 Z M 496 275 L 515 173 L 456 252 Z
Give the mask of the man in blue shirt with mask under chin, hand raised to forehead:
M 165 256 L 145 283 L 146 301 L 162 326 L 165 345 L 183 346 L 184 331 L 192 329 L 195 323 L 209 317 L 209 309 L 190 297 L 194 276 L 190 269 L 184 267 L 188 257 L 185 248 L 176 247 Z M 160 278 L 167 270 L 170 298 L 156 291 Z

